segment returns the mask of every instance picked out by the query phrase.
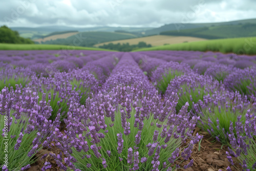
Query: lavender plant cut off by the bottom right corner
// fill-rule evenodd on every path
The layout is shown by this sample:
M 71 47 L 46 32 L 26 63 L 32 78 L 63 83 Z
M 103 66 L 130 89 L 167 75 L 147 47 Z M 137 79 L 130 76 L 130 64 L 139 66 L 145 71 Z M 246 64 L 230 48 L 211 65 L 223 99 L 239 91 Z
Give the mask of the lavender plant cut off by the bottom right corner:
M 231 148 L 228 148 L 227 158 L 233 165 L 230 155 L 237 157 L 246 171 L 256 169 L 256 116 L 250 110 L 245 115 L 245 122 L 242 122 L 241 115 L 238 116 L 233 127 L 230 123 L 230 134 L 228 135 Z M 237 137 L 234 132 L 236 132 Z M 230 169 L 230 168 L 229 168 Z M 230 169 L 231 170 L 231 169 Z

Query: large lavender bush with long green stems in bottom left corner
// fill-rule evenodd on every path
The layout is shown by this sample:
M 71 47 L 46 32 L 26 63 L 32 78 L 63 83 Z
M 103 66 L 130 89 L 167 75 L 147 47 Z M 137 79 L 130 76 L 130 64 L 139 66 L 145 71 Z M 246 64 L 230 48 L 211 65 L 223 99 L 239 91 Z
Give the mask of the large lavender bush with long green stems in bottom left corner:
M 49 147 L 58 122 L 49 121 L 52 108 L 45 95 L 38 101 L 35 92 L 24 94 L 17 85 L 0 94 L 0 166 L 3 171 L 26 170 L 37 158 L 34 155 Z M 58 115 L 60 117 L 60 115 Z

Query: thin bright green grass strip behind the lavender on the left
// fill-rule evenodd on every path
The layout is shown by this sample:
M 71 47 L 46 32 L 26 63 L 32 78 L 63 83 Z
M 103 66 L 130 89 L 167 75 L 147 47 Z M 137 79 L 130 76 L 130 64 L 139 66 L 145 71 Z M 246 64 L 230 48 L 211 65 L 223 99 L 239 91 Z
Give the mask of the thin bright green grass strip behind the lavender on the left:
M 113 51 L 100 48 L 87 48 L 67 45 L 38 45 L 38 44 L 0 44 L 0 50 L 93 50 L 93 51 Z

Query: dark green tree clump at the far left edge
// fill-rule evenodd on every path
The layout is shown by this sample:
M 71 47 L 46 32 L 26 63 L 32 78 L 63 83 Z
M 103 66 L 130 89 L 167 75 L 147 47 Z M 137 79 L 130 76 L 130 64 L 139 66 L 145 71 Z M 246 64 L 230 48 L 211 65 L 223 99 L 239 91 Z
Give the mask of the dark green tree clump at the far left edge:
M 6 26 L 0 27 L 0 43 L 34 44 L 34 42 L 29 38 L 20 37 L 17 31 L 12 31 Z

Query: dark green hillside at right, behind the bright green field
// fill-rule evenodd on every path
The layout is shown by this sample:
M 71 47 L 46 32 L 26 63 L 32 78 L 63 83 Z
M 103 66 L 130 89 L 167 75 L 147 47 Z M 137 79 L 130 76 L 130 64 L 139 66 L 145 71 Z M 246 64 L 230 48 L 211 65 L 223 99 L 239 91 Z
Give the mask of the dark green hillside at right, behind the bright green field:
M 161 35 L 192 36 L 207 39 L 256 36 L 256 24 L 222 25 L 196 29 L 161 32 Z

